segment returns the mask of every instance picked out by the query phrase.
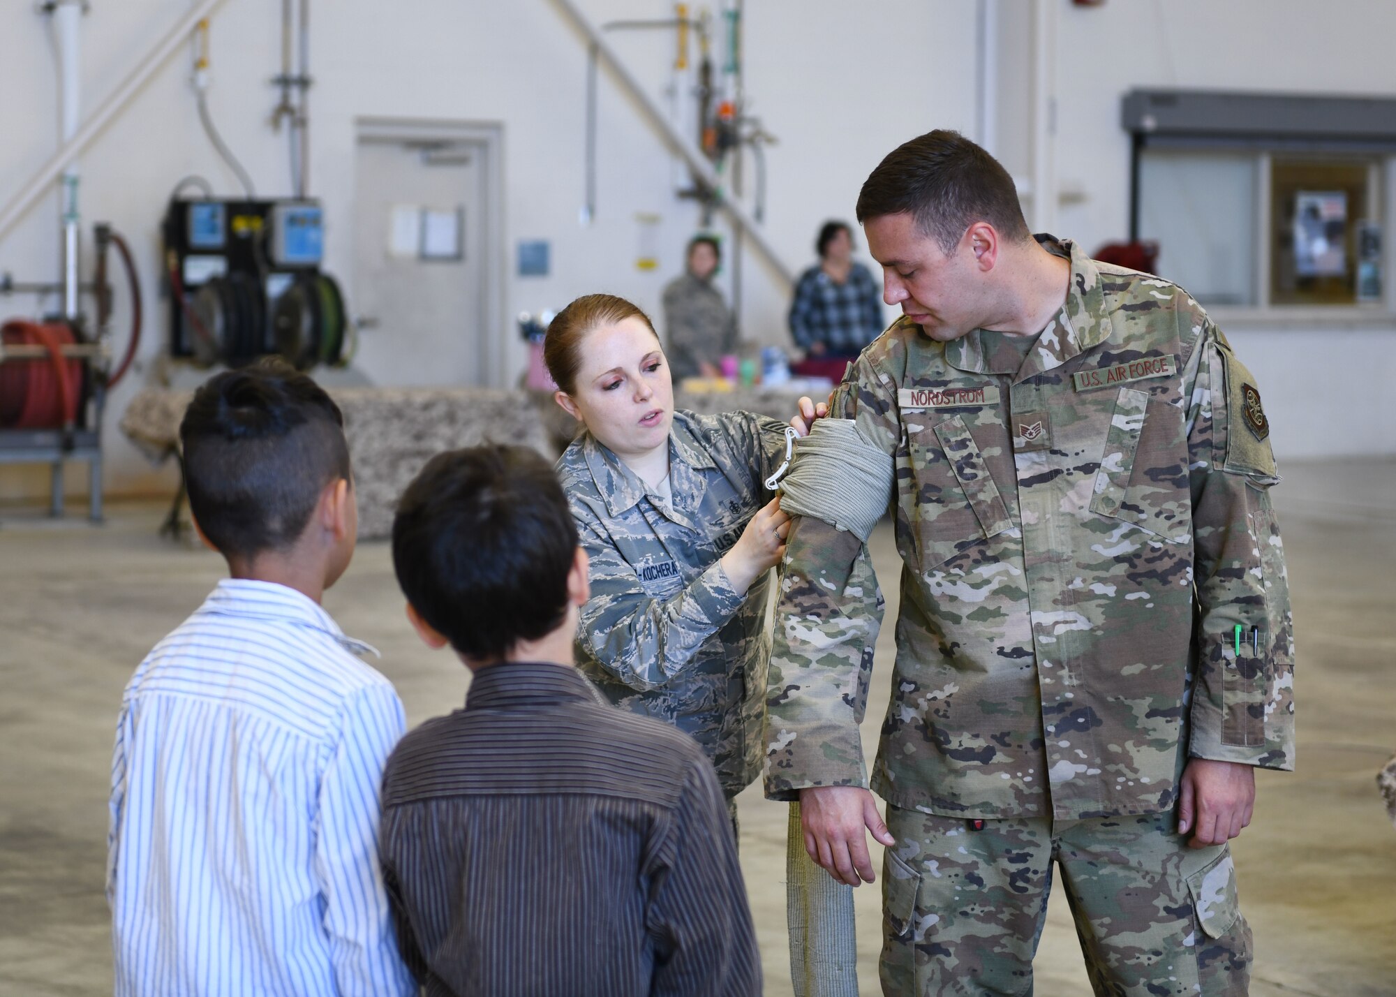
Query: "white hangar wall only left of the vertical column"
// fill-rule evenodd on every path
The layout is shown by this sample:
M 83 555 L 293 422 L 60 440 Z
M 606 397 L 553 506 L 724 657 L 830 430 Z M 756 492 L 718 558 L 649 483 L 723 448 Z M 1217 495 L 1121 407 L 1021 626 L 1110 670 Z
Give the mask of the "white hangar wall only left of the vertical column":
M 673 13 L 660 0 L 582 0 L 582 7 L 597 22 Z M 85 110 L 116 85 L 152 35 L 186 8 L 187 0 L 94 0 L 84 18 Z M 209 102 L 258 194 L 285 194 L 290 183 L 285 141 L 267 123 L 275 103 L 268 78 L 279 68 L 279 0 L 225 0 L 212 21 Z M 46 18 L 32 13 L 31 4 L 14 1 L 0 10 L 0 21 L 6 89 L 25 96 L 0 103 L 3 201 L 53 152 L 57 95 Z M 611 38 L 660 96 L 673 56 L 669 36 Z M 893 45 L 917 54 L 889 59 Z M 670 156 L 603 74 L 597 215 L 589 228 L 578 223 L 585 53 L 581 35 L 550 0 L 313 3 L 310 190 L 327 207 L 327 268 L 346 279 L 350 299 L 355 119 L 419 117 L 504 123 L 508 314 L 557 309 L 592 290 L 625 295 L 658 311 L 663 283 L 681 267 L 698 208 L 673 195 Z M 766 228 L 789 268 L 812 260 L 811 243 L 825 218 L 852 221 L 859 184 L 898 142 L 937 124 L 970 126 L 973 59 L 973 10 L 956 0 L 747 4 L 747 94 L 780 140 L 769 151 Z M 126 401 L 149 381 L 151 363 L 162 349 L 165 303 L 155 267 L 166 198 L 186 173 L 201 173 L 221 191 L 236 193 L 233 176 L 198 127 L 188 75 L 190 59 L 172 59 L 82 158 L 85 221 L 109 219 L 133 240 L 147 299 L 142 366 L 109 406 L 106 482 L 116 494 L 173 483 L 168 468 L 152 472 L 114 430 Z M 748 166 L 748 191 L 751 176 Z M 659 271 L 634 265 L 639 249 L 635 212 L 663 216 Z M 56 275 L 54 215 L 54 205 L 45 202 L 0 240 L 0 271 L 13 271 L 15 279 Z M 550 276 L 512 275 L 519 239 L 551 242 Z M 759 342 L 786 341 L 786 292 L 750 247 L 743 276 L 747 335 Z M 32 299 L 0 299 L 0 314 L 34 311 Z M 121 323 L 119 314 L 117 328 Z M 391 327 L 364 335 L 391 335 Z M 498 335 L 510 345 L 512 370 L 522 370 L 512 325 Z M 363 373 L 374 377 L 373 370 Z M 70 485 L 81 490 L 78 469 Z M 0 468 L 0 497 L 42 494 L 45 487 L 43 469 Z

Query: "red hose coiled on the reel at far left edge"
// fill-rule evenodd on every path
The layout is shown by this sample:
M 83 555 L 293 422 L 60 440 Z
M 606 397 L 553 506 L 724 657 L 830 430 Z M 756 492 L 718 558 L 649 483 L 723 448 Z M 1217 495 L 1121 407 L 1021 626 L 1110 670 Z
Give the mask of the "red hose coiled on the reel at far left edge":
M 60 429 L 78 418 L 82 362 L 64 360 L 61 348 L 77 342 L 73 330 L 54 323 L 40 325 L 8 321 L 0 328 L 7 345 L 43 346 L 47 360 L 0 363 L 0 426 L 13 429 Z

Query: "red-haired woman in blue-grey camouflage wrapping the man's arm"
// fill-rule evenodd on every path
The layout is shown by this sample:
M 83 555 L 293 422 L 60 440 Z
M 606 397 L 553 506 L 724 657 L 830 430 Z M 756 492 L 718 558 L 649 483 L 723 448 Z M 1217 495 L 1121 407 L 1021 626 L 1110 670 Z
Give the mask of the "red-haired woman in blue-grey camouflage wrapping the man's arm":
M 764 482 L 785 423 L 676 412 L 649 318 L 610 295 L 563 309 L 544 356 L 586 427 L 557 462 L 591 559 L 581 669 L 613 702 L 692 734 L 730 802 L 761 771 L 768 570 L 789 529 Z

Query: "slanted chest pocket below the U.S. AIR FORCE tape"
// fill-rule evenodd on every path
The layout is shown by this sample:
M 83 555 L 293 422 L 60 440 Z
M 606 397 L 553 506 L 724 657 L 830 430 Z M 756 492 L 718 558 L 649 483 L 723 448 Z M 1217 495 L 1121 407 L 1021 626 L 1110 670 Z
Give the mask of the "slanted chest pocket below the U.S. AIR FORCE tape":
M 1182 409 L 1148 391 L 1120 388 L 1096 472 L 1090 511 L 1170 543 L 1192 535 Z

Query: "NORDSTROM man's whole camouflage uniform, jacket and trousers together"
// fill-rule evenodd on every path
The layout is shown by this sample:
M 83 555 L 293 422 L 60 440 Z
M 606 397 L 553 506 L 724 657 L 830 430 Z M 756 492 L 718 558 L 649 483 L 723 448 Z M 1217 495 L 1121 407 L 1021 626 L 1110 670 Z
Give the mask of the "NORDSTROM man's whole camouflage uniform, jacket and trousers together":
M 898 839 L 884 987 L 1027 993 L 1057 859 L 1099 993 L 1245 993 L 1230 852 L 1185 848 L 1173 808 L 1188 755 L 1294 765 L 1269 424 L 1182 289 L 1041 242 L 1069 289 L 1026 360 L 899 320 L 835 398 L 895 462 L 905 563 L 871 776 Z M 867 549 L 797 519 L 768 796 L 868 785 L 879 623 Z

